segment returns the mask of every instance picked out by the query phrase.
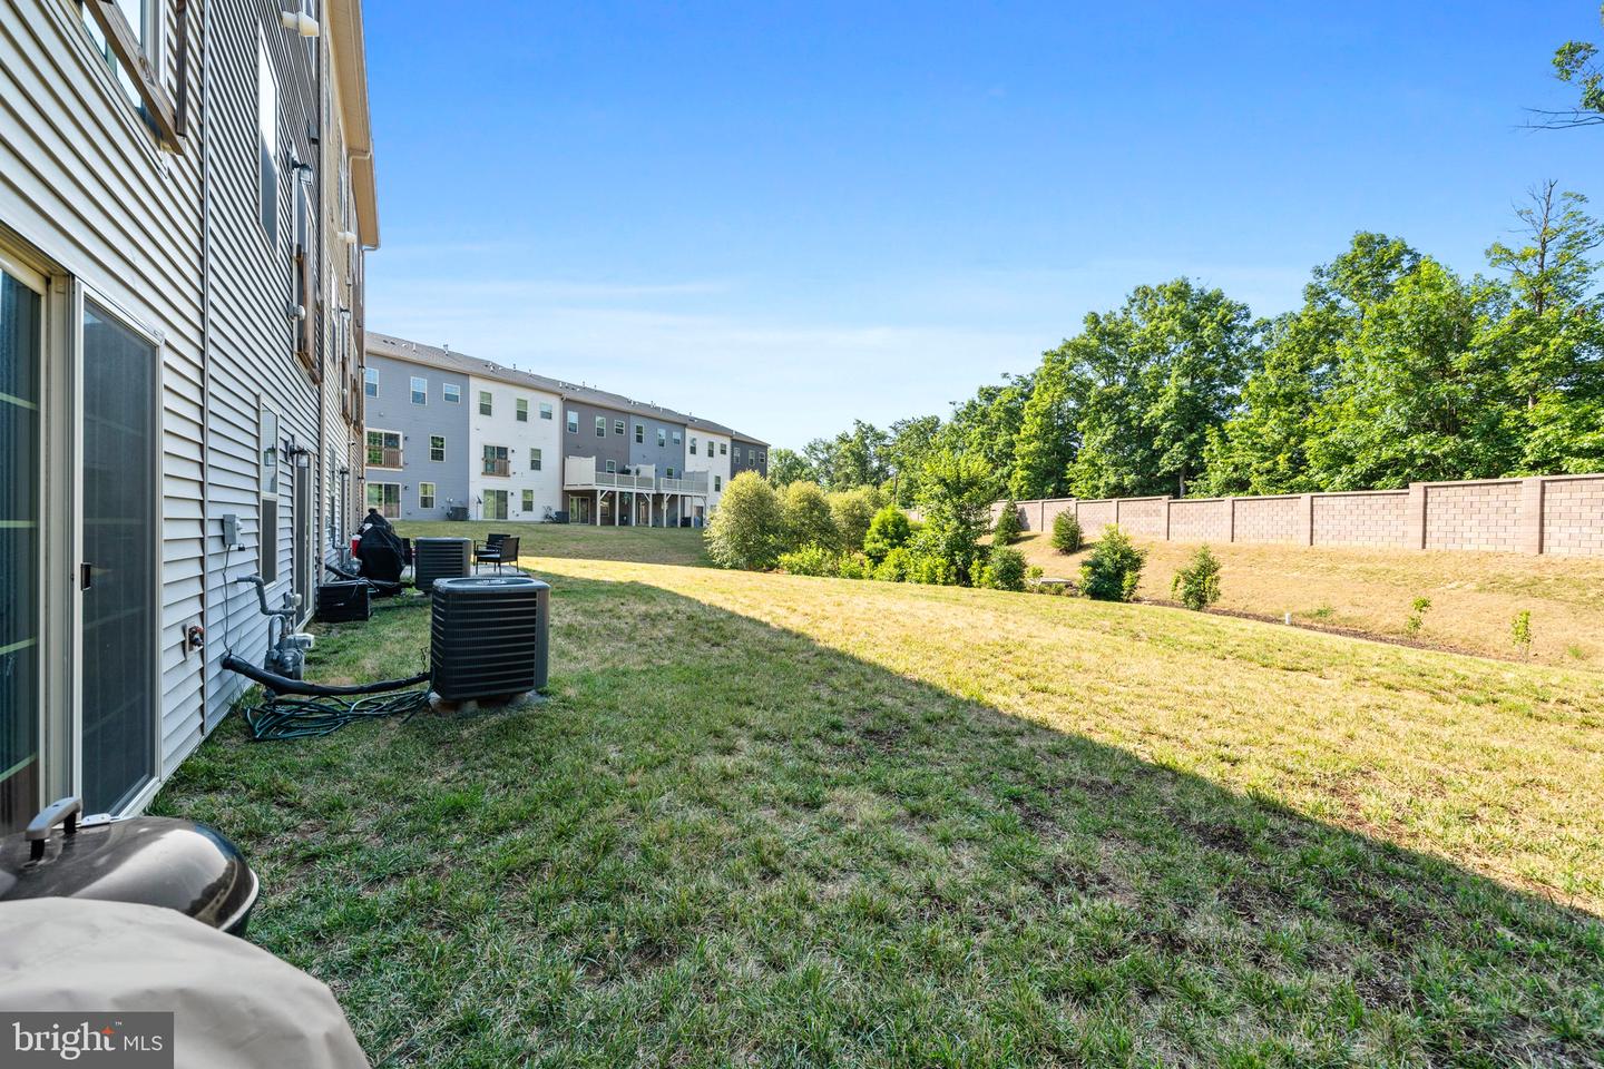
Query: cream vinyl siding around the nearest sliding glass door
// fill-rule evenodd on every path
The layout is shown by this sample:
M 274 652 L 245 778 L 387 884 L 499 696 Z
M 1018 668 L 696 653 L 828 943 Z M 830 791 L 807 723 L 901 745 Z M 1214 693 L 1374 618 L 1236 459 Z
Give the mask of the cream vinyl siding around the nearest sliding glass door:
M 178 34 L 167 11 L 162 67 L 175 91 Z M 188 67 L 199 72 L 199 5 L 189 18 Z M 157 151 L 77 6 L 0 5 L 0 224 L 162 338 L 159 776 L 200 726 L 200 659 L 183 651 L 202 607 L 199 220 L 196 138 L 181 154 Z

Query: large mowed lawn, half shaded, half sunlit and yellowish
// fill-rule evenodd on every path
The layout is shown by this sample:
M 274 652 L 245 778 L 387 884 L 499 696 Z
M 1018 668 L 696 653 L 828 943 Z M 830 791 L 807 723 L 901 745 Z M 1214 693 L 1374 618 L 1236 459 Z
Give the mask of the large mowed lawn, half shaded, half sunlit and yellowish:
M 231 718 L 157 803 L 375 1064 L 1599 1063 L 1598 673 L 545 534 L 549 704 Z

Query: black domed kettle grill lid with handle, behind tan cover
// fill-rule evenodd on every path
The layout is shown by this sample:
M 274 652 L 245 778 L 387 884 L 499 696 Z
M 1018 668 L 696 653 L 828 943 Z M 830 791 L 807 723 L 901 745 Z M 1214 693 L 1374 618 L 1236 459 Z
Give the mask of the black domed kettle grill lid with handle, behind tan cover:
M 82 801 L 63 798 L 27 830 L 0 840 L 0 907 L 29 898 L 140 902 L 245 934 L 257 873 L 217 829 L 175 817 L 82 814 Z

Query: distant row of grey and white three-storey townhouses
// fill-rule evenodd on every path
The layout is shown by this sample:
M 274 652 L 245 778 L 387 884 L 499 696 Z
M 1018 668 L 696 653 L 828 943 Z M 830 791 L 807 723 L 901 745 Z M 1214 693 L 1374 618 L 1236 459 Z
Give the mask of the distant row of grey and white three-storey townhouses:
M 366 498 L 399 519 L 695 527 L 736 438 L 767 471 L 767 444 L 720 423 L 446 348 L 369 332 L 366 377 Z M 459 378 L 462 401 L 436 402 Z

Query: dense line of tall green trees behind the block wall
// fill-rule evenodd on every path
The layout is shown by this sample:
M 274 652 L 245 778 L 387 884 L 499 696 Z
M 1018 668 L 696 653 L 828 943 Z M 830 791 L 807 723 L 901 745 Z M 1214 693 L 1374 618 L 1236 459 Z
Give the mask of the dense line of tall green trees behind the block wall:
M 1140 285 L 946 418 L 770 450 L 770 479 L 914 505 L 942 457 L 975 460 L 994 495 L 1020 500 L 1601 471 L 1604 226 L 1556 183 L 1516 215 L 1469 277 L 1355 234 L 1270 319 L 1192 279 Z

